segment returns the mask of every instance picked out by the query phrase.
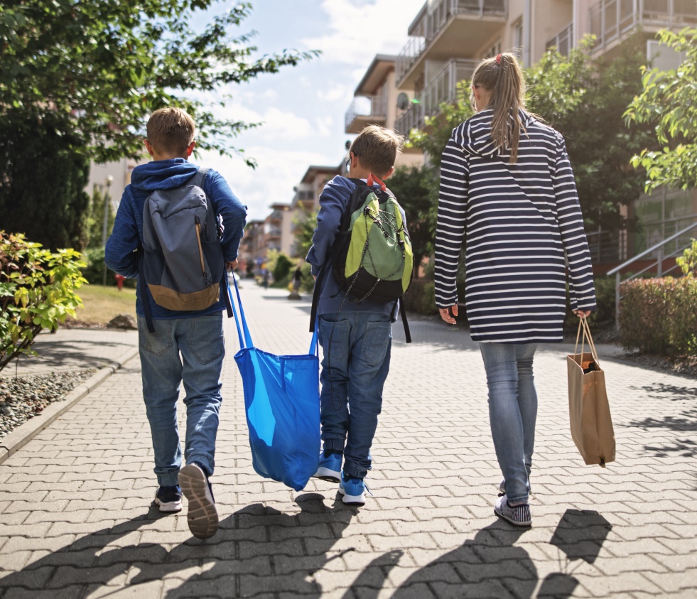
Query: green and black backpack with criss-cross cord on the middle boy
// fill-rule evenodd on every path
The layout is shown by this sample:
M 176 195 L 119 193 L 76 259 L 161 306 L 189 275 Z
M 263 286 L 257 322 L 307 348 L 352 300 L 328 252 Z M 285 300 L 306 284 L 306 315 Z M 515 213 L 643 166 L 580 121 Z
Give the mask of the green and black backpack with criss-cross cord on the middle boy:
M 332 249 L 332 271 L 354 301 L 398 300 L 414 276 L 411 239 L 394 195 L 377 177 L 357 187 L 342 215 Z M 374 188 L 379 183 L 380 188 Z

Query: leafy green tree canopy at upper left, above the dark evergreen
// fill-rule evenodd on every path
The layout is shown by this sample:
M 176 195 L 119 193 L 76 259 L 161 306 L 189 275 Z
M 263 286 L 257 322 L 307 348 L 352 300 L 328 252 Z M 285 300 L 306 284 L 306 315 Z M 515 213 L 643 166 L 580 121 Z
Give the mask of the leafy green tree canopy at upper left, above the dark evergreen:
M 80 139 L 98 163 L 142 153 L 154 109 L 179 106 L 198 124 L 200 149 L 230 145 L 254 124 L 225 119 L 232 85 L 317 55 L 283 50 L 257 56 L 254 32 L 232 36 L 252 5 L 234 4 L 198 31 L 197 11 L 217 0 L 6 0 L 0 7 L 0 123 L 50 119 L 58 134 Z M 204 98 L 212 99 L 208 104 Z M 252 161 L 249 161 L 252 163 Z

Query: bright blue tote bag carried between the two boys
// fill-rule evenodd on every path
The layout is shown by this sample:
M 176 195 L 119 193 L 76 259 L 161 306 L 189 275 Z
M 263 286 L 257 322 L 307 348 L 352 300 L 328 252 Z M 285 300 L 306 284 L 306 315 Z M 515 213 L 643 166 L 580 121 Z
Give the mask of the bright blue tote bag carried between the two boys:
M 275 355 L 252 343 L 237 281 L 240 350 L 234 356 L 244 388 L 254 471 L 300 491 L 317 471 L 320 455 L 320 364 L 317 330 L 307 355 Z M 228 288 L 229 293 L 229 288 Z M 234 308 L 234 301 L 232 302 Z M 240 320 L 242 327 L 240 327 Z

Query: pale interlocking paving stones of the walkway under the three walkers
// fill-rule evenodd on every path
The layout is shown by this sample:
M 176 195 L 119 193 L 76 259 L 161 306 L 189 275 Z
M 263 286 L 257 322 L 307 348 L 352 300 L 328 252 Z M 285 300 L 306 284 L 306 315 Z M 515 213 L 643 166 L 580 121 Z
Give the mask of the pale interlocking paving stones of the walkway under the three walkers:
M 244 282 L 258 347 L 305 353 L 309 303 Z M 220 530 L 161 517 L 136 357 L 0 465 L 0 598 L 689 597 L 697 594 L 693 379 L 603 360 L 617 461 L 583 465 L 568 430 L 568 345 L 539 350 L 533 527 L 493 514 L 501 478 L 482 360 L 465 330 L 394 326 L 364 507 L 252 470 L 227 321 L 213 477 Z M 183 422 L 182 422 L 183 424 Z

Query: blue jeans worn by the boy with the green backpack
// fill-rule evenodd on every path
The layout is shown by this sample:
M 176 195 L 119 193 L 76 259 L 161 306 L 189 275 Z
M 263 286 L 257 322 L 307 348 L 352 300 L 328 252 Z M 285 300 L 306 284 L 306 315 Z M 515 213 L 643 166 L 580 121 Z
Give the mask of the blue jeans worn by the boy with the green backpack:
M 323 446 L 343 450 L 345 475 L 363 478 L 370 467 L 368 453 L 389 372 L 391 322 L 389 315 L 372 312 L 333 318 L 330 314 L 319 318 Z

